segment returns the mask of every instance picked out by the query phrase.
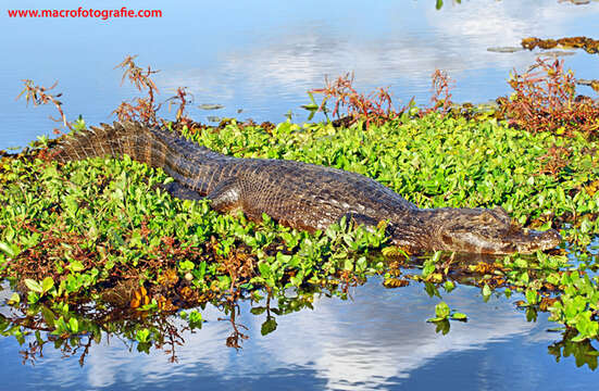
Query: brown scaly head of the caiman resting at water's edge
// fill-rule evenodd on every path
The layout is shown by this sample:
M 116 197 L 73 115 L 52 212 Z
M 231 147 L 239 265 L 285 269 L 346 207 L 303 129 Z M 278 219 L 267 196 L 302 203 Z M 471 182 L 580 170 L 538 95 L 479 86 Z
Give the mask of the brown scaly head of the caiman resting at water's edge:
M 554 229 L 522 228 L 502 207 L 427 210 L 432 248 L 479 254 L 532 253 L 557 247 L 562 238 Z

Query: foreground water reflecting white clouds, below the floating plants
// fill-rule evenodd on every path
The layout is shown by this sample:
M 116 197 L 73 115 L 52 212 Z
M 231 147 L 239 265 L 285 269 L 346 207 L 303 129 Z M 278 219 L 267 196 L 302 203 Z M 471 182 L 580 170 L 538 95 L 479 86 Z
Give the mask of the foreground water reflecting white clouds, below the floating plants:
M 451 377 L 465 389 L 481 389 L 487 382 L 497 389 L 507 377 L 511 377 L 512 384 L 528 381 L 552 389 L 565 380 L 554 374 L 551 380 L 544 378 L 542 374 L 551 371 L 575 375 L 577 381 L 590 380 L 592 371 L 585 360 L 592 356 L 585 354 L 589 349 L 594 351 L 592 346 L 559 342 L 550 348 L 552 354 L 575 354 L 583 367 L 576 369 L 573 358 L 556 364 L 547 354 L 547 346 L 560 336 L 546 331 L 549 324 L 545 317 L 528 323 L 510 300 L 499 297 L 482 305 L 477 288 L 461 286 L 444 295 L 444 300 L 469 314 L 469 323 L 452 323 L 451 331 L 441 337 L 434 325 L 425 323 L 437 300 L 423 293 L 417 283 L 388 290 L 382 287 L 380 279 L 373 278 L 351 291 L 351 301 L 316 295 L 313 310 L 284 316 L 274 315 L 278 305 L 273 303 L 271 315 L 277 327 L 266 336 L 261 332 L 266 312 L 252 315 L 250 304 L 241 302 L 237 321 L 247 326 L 244 332 L 249 339 L 240 350 L 225 346 L 230 324 L 219 320 L 224 314 L 212 305 L 201 311 L 207 321 L 200 330 L 186 330 L 182 319 L 169 319 L 185 342 L 171 345 L 165 338 L 161 349 L 150 349 L 148 354 L 137 352 L 137 345 L 118 333 L 110 338 L 103 333 L 101 343 L 91 343 L 88 352 L 80 349 L 70 358 L 47 344 L 35 370 L 28 370 L 28 365 L 14 365 L 18 357 L 12 343 L 2 341 L 0 346 L 9 363 L 5 369 L 27 373 L 29 388 L 37 387 L 43 378 L 47 384 L 67 389 L 84 384 L 95 389 L 192 389 L 191 384 L 198 383 L 205 384 L 205 389 L 240 383 L 245 389 L 264 384 L 282 389 L 387 389 L 414 379 L 422 383 L 423 371 L 436 374 L 433 378 L 437 380 L 428 379 L 426 383 Z M 30 343 L 35 338 L 27 340 Z M 27 343 L 22 346 L 26 348 Z M 173 354 L 177 364 L 170 364 Z

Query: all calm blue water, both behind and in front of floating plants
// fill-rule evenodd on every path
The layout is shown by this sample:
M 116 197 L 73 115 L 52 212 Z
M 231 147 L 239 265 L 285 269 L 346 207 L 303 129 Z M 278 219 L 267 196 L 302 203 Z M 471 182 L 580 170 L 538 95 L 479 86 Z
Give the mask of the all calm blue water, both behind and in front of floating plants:
M 97 3 L 97 4 L 96 4 Z M 62 1 L 62 8 L 80 2 Z M 100 7 L 99 2 L 86 7 Z M 124 2 L 102 1 L 105 9 Z M 0 23 L 0 149 L 24 146 L 54 126 L 48 108 L 14 101 L 21 79 L 46 86 L 59 80 L 70 118 L 112 121 L 110 113 L 135 96 L 120 86 L 114 70 L 127 54 L 161 70 L 155 80 L 162 99 L 178 86 L 195 96 L 192 117 L 251 117 L 277 122 L 299 105 L 305 91 L 325 75 L 355 73 L 359 88 L 390 86 L 398 103 L 429 99 L 435 68 L 450 73 L 458 101 L 482 102 L 508 93 L 510 70 L 524 70 L 536 53 L 494 53 L 489 47 L 517 46 L 523 37 L 598 38 L 599 3 L 557 1 L 127 1 L 129 9 L 160 9 L 160 20 L 17 20 L 5 9 L 48 8 L 43 1 L 2 3 Z M 52 5 L 58 7 L 58 5 Z M 594 36 L 595 34 L 595 36 Z M 582 78 L 598 78 L 599 56 L 582 51 L 565 58 Z M 590 90 L 581 92 L 591 93 Z M 207 112 L 201 103 L 225 109 Z M 241 109 L 240 114 L 237 111 Z M 178 363 L 163 351 L 138 353 L 116 338 L 93 345 L 82 367 L 78 356 L 63 357 L 47 345 L 35 365 L 22 364 L 13 338 L 0 340 L 0 389 L 461 389 L 564 390 L 595 388 L 597 371 L 573 356 L 559 363 L 548 348 L 561 339 L 542 315 L 526 320 L 515 299 L 491 298 L 460 287 L 444 300 L 469 315 L 452 323 L 447 336 L 425 319 L 438 299 L 423 287 L 386 290 L 371 279 L 352 290 L 353 300 L 321 298 L 314 310 L 276 318 L 276 331 L 262 336 L 265 315 L 241 303 L 238 319 L 249 339 L 241 350 L 225 346 L 230 333 L 216 308 L 202 311 L 208 323 L 185 332 Z M 8 308 L 2 308 L 8 311 Z M 30 340 L 28 340 L 30 341 Z M 578 363 L 581 364 L 581 363 Z

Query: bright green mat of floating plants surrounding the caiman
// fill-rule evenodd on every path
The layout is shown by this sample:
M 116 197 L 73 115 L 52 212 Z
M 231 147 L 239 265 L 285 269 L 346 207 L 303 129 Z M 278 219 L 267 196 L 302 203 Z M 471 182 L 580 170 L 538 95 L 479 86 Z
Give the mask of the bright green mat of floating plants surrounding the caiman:
M 310 235 L 267 217 L 255 224 L 220 215 L 208 201 L 171 198 L 159 185 L 172 178 L 127 156 L 59 166 L 29 151 L 0 163 L 0 275 L 15 292 L 10 305 L 25 314 L 18 321 L 3 317 L 3 335 L 23 341 L 46 330 L 68 341 L 82 333 L 99 339 L 104 330 L 147 350 L 163 338 L 160 319 L 180 308 L 267 295 L 297 311 L 311 305 L 313 292 L 342 297 L 348 286 L 380 274 L 389 288 L 419 280 L 437 293 L 456 283 L 476 285 L 484 298 L 521 291 L 520 305 L 549 311 L 574 341 L 598 336 L 597 141 L 533 135 L 485 115 L 404 115 L 367 130 L 232 121 L 183 131 L 225 154 L 357 172 L 421 207 L 500 205 L 522 225 L 560 229 L 565 243 L 549 254 L 474 262 L 442 253 L 410 257 L 386 244 L 384 227 L 369 232 L 341 222 Z M 286 298 L 289 289 L 296 299 Z M 182 316 L 201 326 L 198 312 Z M 432 320 L 465 316 L 441 303 Z M 276 327 L 269 321 L 263 332 Z

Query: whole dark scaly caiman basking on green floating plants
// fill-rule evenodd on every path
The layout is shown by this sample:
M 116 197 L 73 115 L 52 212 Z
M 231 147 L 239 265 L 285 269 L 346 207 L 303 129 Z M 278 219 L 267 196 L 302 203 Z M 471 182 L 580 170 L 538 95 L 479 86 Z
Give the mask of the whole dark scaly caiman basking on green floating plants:
M 227 156 L 135 122 L 102 124 L 67 136 L 53 152 L 60 162 L 127 154 L 172 176 L 175 181 L 166 190 L 173 195 L 207 198 L 219 212 L 241 210 L 253 220 L 265 213 L 309 231 L 326 229 L 344 216 L 371 228 L 387 220 L 390 242 L 410 253 L 531 253 L 561 242 L 558 231 L 524 229 L 501 207 L 419 209 L 360 174 L 287 160 Z

